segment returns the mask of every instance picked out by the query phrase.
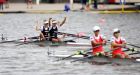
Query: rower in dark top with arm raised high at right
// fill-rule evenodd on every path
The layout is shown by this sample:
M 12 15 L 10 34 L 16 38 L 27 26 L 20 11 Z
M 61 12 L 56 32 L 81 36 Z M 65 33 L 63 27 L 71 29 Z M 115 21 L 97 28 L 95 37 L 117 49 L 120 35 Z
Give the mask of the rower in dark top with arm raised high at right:
M 66 17 L 64 18 L 64 20 L 61 23 L 56 21 L 56 20 L 52 21 L 52 25 L 51 25 L 50 31 L 49 31 L 50 41 L 52 41 L 52 42 L 60 42 L 61 41 L 61 39 L 58 38 L 58 36 L 57 36 L 58 35 L 58 28 L 61 27 L 65 23 L 65 21 L 66 21 Z

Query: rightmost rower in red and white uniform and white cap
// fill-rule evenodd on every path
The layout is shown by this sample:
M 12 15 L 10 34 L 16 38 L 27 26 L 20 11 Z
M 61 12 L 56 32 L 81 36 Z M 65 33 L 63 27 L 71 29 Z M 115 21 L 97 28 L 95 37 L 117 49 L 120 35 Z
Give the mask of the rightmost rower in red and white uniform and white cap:
M 122 48 L 126 47 L 126 40 L 120 36 L 120 30 L 115 28 L 113 30 L 113 37 L 111 37 L 111 50 L 112 50 L 112 57 L 120 57 L 120 58 L 127 58 Z

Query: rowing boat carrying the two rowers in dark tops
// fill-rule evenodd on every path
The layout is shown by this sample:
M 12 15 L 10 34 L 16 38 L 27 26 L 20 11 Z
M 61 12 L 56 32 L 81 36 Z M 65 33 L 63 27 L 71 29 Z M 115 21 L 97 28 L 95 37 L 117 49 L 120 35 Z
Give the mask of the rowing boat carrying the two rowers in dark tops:
M 6 41 L 1 41 L 0 44 L 15 43 L 17 44 L 16 46 L 19 46 L 23 44 L 34 43 L 34 44 L 42 45 L 42 46 L 91 46 L 90 43 L 76 43 L 73 39 L 63 40 L 61 42 L 51 42 L 48 40 L 40 41 L 38 37 L 39 36 L 29 37 L 29 38 L 24 38 L 24 39 L 17 39 L 17 40 L 6 40 Z

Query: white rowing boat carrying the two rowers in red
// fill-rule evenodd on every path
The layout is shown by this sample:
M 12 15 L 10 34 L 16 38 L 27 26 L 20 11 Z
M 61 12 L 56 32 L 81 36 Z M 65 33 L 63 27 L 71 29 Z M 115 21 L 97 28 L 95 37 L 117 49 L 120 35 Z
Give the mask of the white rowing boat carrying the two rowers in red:
M 69 55 L 50 55 L 50 57 L 58 58 L 61 60 L 61 58 L 67 58 Z M 134 63 L 140 63 L 140 58 L 111 58 L 108 56 L 84 56 L 84 55 L 74 55 L 71 56 L 70 58 L 67 58 L 65 60 L 72 60 L 71 62 L 76 62 L 76 61 L 82 61 L 82 62 L 88 62 L 88 63 L 96 63 L 96 64 L 101 64 L 101 63 L 107 63 L 107 64 L 119 64 L 119 65 L 131 65 Z

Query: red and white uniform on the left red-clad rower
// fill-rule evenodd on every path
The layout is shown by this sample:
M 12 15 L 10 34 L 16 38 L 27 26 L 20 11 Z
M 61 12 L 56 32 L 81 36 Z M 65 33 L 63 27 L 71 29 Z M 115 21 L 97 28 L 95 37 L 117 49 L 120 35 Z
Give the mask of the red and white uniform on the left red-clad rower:
M 97 43 L 102 43 L 104 39 L 105 39 L 105 37 L 103 35 L 90 37 L 91 42 L 94 41 L 94 42 L 97 42 Z M 96 45 L 92 44 L 92 47 L 93 47 L 93 49 L 92 49 L 93 55 L 96 55 L 96 53 L 104 52 L 104 49 L 103 49 L 102 45 L 96 46 Z

